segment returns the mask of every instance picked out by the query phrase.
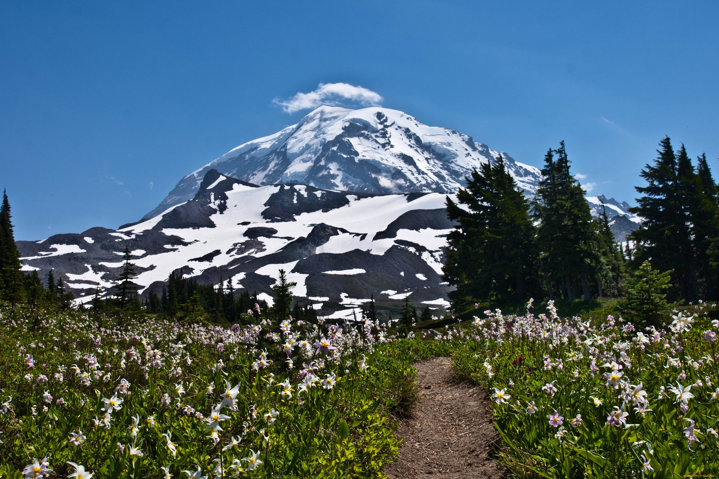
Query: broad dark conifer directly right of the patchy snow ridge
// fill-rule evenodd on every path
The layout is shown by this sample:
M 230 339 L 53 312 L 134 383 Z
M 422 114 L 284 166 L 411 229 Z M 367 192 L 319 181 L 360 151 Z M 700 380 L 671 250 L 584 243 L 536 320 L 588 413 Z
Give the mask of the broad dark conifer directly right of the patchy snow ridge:
M 523 302 L 536 292 L 535 228 L 529 204 L 505 168 L 503 158 L 472 170 L 457 201 L 446 198 L 456 221 L 447 235 L 444 279 L 457 287 L 449 293 L 454 310 L 475 302 Z

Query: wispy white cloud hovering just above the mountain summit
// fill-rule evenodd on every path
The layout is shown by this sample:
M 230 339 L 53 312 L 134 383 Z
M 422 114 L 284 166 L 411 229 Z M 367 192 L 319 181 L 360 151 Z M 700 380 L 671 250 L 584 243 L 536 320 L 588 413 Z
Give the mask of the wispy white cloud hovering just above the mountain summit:
M 282 107 L 285 113 L 295 113 L 318 106 L 338 106 L 342 101 L 352 101 L 362 106 L 377 106 L 384 98 L 379 93 L 349 83 L 320 83 L 317 89 L 310 93 L 295 93 L 289 100 L 275 98 L 273 103 Z

